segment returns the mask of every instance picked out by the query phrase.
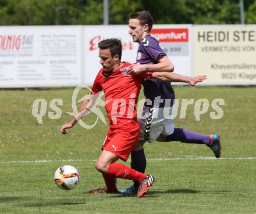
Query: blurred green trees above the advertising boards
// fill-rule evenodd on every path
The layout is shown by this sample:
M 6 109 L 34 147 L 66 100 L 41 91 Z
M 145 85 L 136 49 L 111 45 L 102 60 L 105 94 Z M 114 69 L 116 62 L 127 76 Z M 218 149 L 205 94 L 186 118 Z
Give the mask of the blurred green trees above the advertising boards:
M 148 10 L 155 24 L 240 24 L 239 0 L 108 0 L 109 24 L 127 24 Z M 103 0 L 0 0 L 0 25 L 102 24 Z M 244 0 L 246 24 L 256 23 L 256 0 Z

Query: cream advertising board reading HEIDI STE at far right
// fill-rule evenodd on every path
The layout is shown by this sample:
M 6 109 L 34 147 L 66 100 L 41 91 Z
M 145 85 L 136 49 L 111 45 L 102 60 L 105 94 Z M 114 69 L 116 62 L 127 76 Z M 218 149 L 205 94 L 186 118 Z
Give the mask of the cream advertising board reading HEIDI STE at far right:
M 256 25 L 194 26 L 195 75 L 207 85 L 256 85 Z

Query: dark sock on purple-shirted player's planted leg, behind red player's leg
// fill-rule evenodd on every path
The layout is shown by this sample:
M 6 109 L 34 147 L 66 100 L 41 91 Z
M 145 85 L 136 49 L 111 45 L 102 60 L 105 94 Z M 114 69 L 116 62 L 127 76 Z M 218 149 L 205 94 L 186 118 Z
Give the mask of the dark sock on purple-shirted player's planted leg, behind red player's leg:
M 131 151 L 131 169 L 138 172 L 145 172 L 147 160 L 145 157 L 144 149 L 138 151 Z M 133 181 L 133 187 L 137 190 L 138 183 Z

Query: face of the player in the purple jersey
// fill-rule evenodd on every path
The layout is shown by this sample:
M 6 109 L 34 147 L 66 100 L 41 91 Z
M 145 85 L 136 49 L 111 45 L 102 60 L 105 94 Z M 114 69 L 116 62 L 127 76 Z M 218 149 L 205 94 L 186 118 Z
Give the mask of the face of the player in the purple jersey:
M 140 42 L 141 39 L 147 35 L 146 30 L 148 29 L 148 25 L 141 26 L 140 20 L 138 19 L 130 19 L 129 20 L 129 34 L 133 37 L 133 42 Z

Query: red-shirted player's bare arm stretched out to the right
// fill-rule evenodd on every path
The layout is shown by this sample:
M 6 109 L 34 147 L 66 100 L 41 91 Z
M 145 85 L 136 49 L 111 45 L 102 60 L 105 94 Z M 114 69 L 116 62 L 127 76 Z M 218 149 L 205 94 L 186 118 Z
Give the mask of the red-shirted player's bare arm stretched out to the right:
M 186 82 L 190 86 L 194 86 L 197 82 L 203 82 L 207 79 L 207 75 L 198 75 L 195 77 L 187 77 L 173 72 L 153 72 L 152 78 L 170 82 Z

